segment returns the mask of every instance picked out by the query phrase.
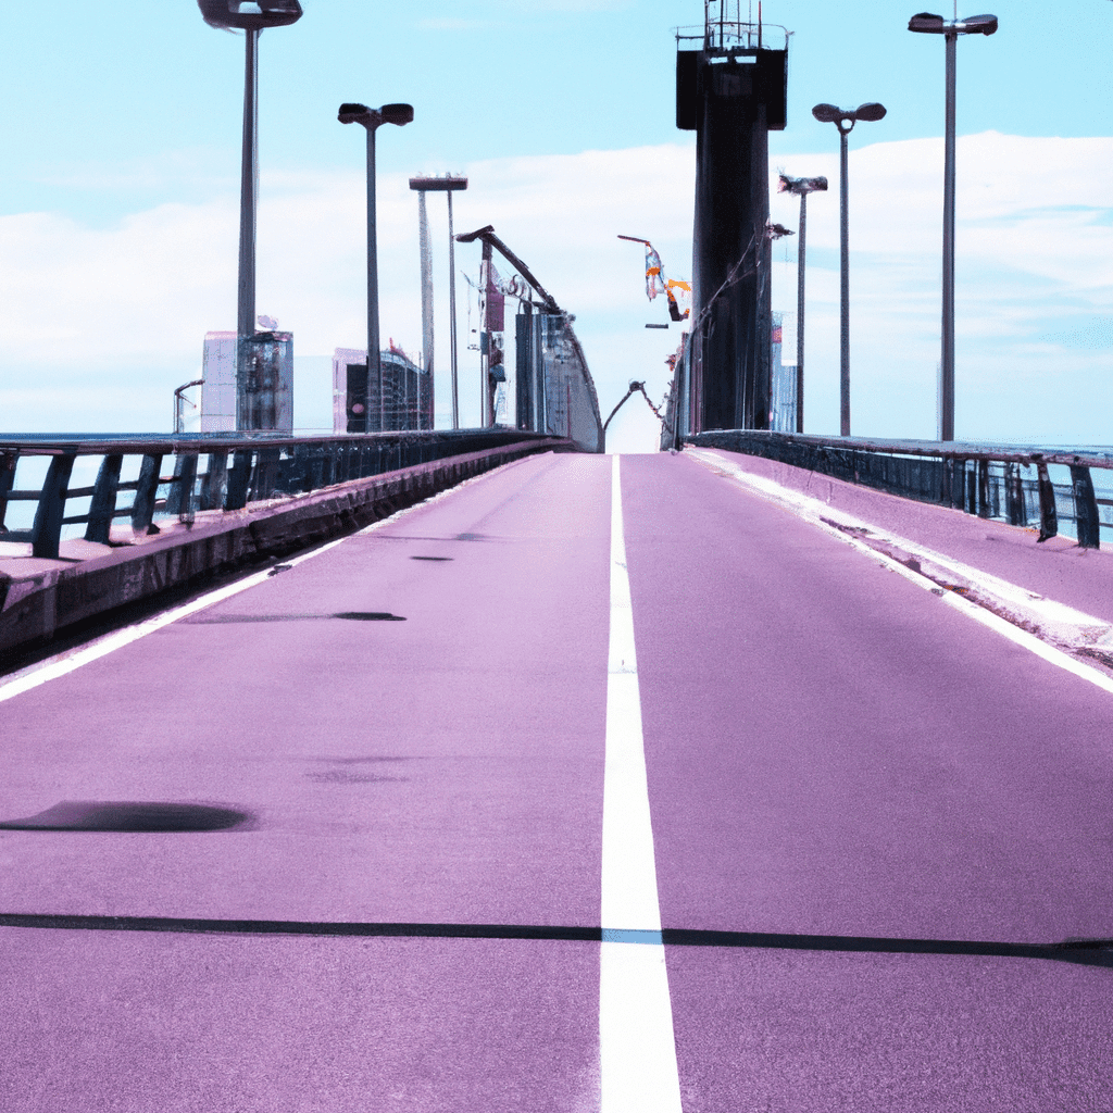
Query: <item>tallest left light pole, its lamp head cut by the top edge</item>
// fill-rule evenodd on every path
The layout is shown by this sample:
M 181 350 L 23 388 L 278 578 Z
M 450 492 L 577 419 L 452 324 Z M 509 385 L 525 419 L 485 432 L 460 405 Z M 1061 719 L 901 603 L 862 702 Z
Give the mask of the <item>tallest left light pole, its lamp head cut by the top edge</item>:
M 288 27 L 302 18 L 298 0 L 197 0 L 209 27 L 239 30 L 246 39 L 244 60 L 244 149 L 239 173 L 239 280 L 236 304 L 236 427 L 247 427 L 246 341 L 255 335 L 255 214 L 258 201 L 259 35 L 268 27 Z

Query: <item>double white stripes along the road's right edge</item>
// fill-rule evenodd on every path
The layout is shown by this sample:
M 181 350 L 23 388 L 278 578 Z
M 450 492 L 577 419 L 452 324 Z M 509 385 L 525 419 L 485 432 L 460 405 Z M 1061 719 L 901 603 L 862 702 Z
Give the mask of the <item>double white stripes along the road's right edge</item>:
M 915 583 L 916 587 L 937 595 L 947 607 L 952 607 L 954 610 L 961 611 L 963 614 L 974 619 L 975 622 L 981 622 L 982 626 L 995 631 L 1003 638 L 1007 638 L 1009 641 L 1023 647 L 1036 657 L 1043 658 L 1043 660 L 1047 661 L 1050 664 L 1054 664 L 1057 668 L 1063 669 L 1065 672 L 1070 672 L 1073 676 L 1078 677 L 1081 680 L 1085 680 L 1094 684 L 1094 687 L 1101 688 L 1103 691 L 1113 693 L 1113 677 L 1102 672 L 1101 669 L 1083 664 L 1082 661 L 1078 661 L 1068 652 L 1058 649 L 1056 646 L 1050 644 L 1042 638 L 1038 638 L 1035 634 L 1030 633 L 1027 630 L 1009 622 L 1007 619 L 1002 618 L 999 614 L 988 610 L 981 603 L 966 599 L 955 591 L 948 591 L 940 588 L 939 584 L 930 577 L 915 571 L 902 561 L 890 556 L 888 553 L 880 552 L 878 549 L 874 548 L 874 545 L 863 541 L 860 538 L 847 533 L 846 529 L 839 529 L 838 524 L 833 524 L 833 522 L 837 521 L 838 523 L 853 529 L 860 530 L 866 528 L 883 541 L 922 556 L 925 561 L 929 561 L 940 568 L 949 568 L 956 574 L 961 574 L 964 579 L 971 579 L 975 585 L 983 587 L 985 589 L 985 593 L 991 599 L 995 597 L 995 589 L 997 589 L 998 598 L 1003 598 L 1005 603 L 1017 605 L 1021 595 L 1027 594 L 1030 597 L 1028 605 L 1034 607 L 1041 602 L 1046 603 L 1048 604 L 1046 610 L 1050 614 L 1056 618 L 1065 615 L 1065 618 L 1062 618 L 1061 621 L 1065 622 L 1068 618 L 1072 622 L 1080 627 L 1084 627 L 1087 620 L 1092 624 L 1103 627 L 1105 623 L 1103 623 L 1101 619 L 1082 614 L 1081 612 L 1066 608 L 1061 603 L 1055 603 L 1053 600 L 1041 600 L 1040 597 L 1035 597 L 1031 592 L 1025 592 L 1023 588 L 1008 583 L 1006 580 L 1001 580 L 989 573 L 979 573 L 979 570 L 977 569 L 953 561 L 951 558 L 945 556 L 942 553 L 926 549 L 925 546 L 918 545 L 905 538 L 900 538 L 897 534 L 888 533 L 879 526 L 861 522 L 843 511 L 833 511 L 831 508 L 827 506 L 825 503 L 812 498 L 811 495 L 804 495 L 799 492 L 790 491 L 788 487 L 781 486 L 774 480 L 768 480 L 760 475 L 750 475 L 749 473 L 742 471 L 742 469 L 740 469 L 737 464 L 733 464 L 732 462 L 713 453 L 709 453 L 703 450 L 687 451 L 692 459 L 703 466 L 721 469 L 722 472 L 728 474 L 730 479 L 748 486 L 759 498 L 764 498 L 769 502 L 774 502 L 777 505 L 782 506 L 804 521 L 809 522 L 811 525 L 815 525 L 825 533 L 828 533 L 830 536 L 837 538 L 839 541 L 848 544 L 851 549 L 857 549 L 859 552 L 873 558 L 884 568 L 887 568 L 892 572 L 896 572 L 897 575 L 908 580 L 909 583 Z M 827 521 L 826 519 L 829 519 L 830 521 Z M 1009 590 L 1004 592 L 1004 588 Z

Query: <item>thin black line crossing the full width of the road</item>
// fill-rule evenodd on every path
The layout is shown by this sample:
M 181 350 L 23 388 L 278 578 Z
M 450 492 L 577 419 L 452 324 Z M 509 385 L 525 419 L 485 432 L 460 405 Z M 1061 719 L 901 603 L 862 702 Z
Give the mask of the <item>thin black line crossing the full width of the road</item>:
M 349 920 L 185 919 L 169 916 L 67 916 L 0 913 L 0 927 L 83 932 L 175 932 L 196 935 L 315 935 L 364 938 L 551 939 L 602 943 L 615 933 L 593 926 L 542 924 L 376 924 Z M 634 933 L 620 933 L 633 936 Z M 906 939 L 856 935 L 788 935 L 767 932 L 709 932 L 664 928 L 637 933 L 667 947 L 740 947 L 752 951 L 815 951 L 846 954 L 964 955 L 988 958 L 1043 958 L 1113 968 L 1113 939 L 1062 943 L 998 943 L 978 939 Z M 634 942 L 631 939 L 631 942 Z

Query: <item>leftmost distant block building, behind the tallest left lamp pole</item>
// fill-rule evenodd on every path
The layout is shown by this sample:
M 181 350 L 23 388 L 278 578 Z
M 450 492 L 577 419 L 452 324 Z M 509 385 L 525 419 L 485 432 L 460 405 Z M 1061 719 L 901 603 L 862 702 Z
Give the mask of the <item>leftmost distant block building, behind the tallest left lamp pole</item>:
M 252 359 L 243 396 L 236 390 L 236 333 L 205 334 L 201 371 L 201 432 L 294 431 L 294 337 L 260 332 L 252 338 Z

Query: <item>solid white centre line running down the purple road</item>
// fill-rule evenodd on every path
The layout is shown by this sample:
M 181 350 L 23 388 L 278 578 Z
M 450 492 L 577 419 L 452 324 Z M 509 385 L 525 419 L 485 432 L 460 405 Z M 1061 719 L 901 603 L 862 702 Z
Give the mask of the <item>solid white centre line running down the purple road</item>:
M 622 535 L 620 457 L 612 459 L 599 978 L 601 1109 L 602 1113 L 681 1113 Z

